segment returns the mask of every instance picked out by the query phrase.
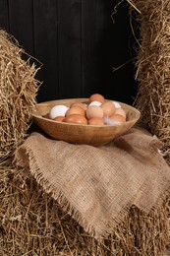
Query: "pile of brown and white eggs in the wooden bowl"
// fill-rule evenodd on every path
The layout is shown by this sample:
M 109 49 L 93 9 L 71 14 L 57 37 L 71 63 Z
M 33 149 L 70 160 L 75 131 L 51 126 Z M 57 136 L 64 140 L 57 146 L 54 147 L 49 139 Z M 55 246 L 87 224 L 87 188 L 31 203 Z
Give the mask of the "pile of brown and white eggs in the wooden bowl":
M 75 102 L 70 106 L 53 106 L 49 118 L 75 124 L 115 125 L 126 122 L 126 112 L 119 102 L 94 94 L 88 97 L 87 103 Z

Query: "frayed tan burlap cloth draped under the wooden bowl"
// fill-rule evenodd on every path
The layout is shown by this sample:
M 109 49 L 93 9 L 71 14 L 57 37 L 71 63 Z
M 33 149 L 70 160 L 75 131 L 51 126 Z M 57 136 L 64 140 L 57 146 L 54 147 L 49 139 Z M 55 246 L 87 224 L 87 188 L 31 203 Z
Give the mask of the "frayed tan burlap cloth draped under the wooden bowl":
M 149 213 L 169 191 L 170 167 L 160 141 L 133 128 L 95 148 L 55 141 L 34 132 L 16 151 L 18 165 L 96 238 L 106 236 L 132 205 Z

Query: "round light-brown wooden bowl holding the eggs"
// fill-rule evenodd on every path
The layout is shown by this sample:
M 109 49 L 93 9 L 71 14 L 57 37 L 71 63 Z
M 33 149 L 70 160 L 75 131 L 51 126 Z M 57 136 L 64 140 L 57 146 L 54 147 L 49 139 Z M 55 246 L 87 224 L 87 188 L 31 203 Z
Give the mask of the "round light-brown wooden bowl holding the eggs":
M 135 107 L 119 102 L 127 113 L 127 121 L 118 125 L 86 125 L 57 122 L 43 116 L 57 104 L 70 106 L 74 102 L 87 102 L 88 98 L 68 98 L 38 103 L 32 114 L 34 122 L 51 138 L 73 144 L 103 146 L 131 129 L 141 113 Z

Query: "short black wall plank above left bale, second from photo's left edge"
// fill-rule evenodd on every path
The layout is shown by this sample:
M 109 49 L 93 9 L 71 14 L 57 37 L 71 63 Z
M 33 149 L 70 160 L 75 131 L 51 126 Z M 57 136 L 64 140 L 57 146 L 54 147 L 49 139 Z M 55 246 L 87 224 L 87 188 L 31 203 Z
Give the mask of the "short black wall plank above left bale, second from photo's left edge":
M 33 55 L 32 0 L 8 0 L 9 32 Z

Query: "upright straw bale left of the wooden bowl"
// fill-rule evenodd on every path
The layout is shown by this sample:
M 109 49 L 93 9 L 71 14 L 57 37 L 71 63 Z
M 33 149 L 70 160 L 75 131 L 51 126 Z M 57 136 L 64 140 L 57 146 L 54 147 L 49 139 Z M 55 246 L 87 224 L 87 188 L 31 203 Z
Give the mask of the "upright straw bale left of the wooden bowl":
M 35 80 L 37 70 L 17 40 L 0 31 L 0 163 L 12 158 L 27 136 L 40 86 Z

